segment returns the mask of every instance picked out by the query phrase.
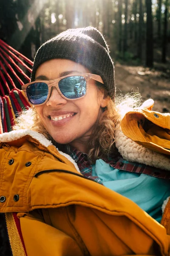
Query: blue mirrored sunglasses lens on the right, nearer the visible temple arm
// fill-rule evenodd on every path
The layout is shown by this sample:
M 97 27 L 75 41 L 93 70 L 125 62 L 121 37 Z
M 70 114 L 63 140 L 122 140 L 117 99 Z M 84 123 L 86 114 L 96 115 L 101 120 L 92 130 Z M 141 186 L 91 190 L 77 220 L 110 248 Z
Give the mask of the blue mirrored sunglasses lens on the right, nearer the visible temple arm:
M 86 81 L 83 76 L 69 76 L 59 81 L 59 90 L 68 99 L 77 99 L 86 93 Z

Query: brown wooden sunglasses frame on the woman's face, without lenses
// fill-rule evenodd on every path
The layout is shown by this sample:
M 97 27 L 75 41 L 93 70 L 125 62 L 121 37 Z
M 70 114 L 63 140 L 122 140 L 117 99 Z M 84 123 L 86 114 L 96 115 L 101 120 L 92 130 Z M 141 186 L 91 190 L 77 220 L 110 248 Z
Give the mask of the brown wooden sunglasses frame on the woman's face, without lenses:
M 58 85 L 58 84 L 59 84 L 59 81 L 62 80 L 62 79 L 64 79 L 64 78 L 66 78 L 66 77 L 70 77 L 70 76 L 82 76 L 82 77 L 84 77 L 84 79 L 85 79 L 85 81 L 86 81 L 86 93 L 85 93 L 83 96 L 81 96 L 81 97 L 79 97 L 79 98 L 76 98 L 76 99 L 68 99 L 68 98 L 65 97 L 65 96 L 62 94 L 62 92 L 60 91 L 59 85 Z M 95 75 L 95 74 L 91 74 L 91 73 L 83 73 L 83 74 L 78 73 L 78 74 L 74 74 L 74 75 L 62 76 L 62 77 L 57 78 L 57 79 L 54 79 L 54 80 L 47 80 L 47 81 L 45 81 L 45 80 L 40 80 L 40 81 L 37 80 L 37 81 L 33 81 L 33 82 L 31 82 L 31 83 L 22 85 L 22 90 L 23 90 L 23 92 L 25 93 L 26 99 L 28 100 L 28 102 L 29 102 L 31 105 L 38 105 L 38 106 L 40 106 L 40 105 L 43 105 L 43 104 L 45 104 L 46 102 L 48 102 L 48 100 L 49 100 L 49 98 L 50 98 L 50 96 L 51 96 L 51 90 L 50 90 L 50 88 L 52 89 L 52 87 L 56 87 L 58 93 L 62 96 L 62 98 L 66 99 L 66 100 L 77 100 L 77 99 L 82 99 L 82 98 L 87 94 L 87 92 L 88 92 L 88 85 L 89 85 L 89 79 L 93 79 L 93 80 L 95 80 L 95 81 L 98 81 L 98 82 L 104 84 L 104 83 L 103 83 L 103 80 L 102 80 L 102 78 L 101 78 L 101 76 L 99 76 L 99 75 Z M 48 95 L 47 95 L 47 99 L 45 100 L 45 102 L 43 102 L 43 103 L 41 103 L 41 104 L 32 104 L 32 103 L 29 101 L 29 99 L 28 99 L 26 89 L 27 89 L 27 87 L 28 87 L 29 85 L 34 84 L 34 83 L 45 83 L 45 84 L 48 85 Z

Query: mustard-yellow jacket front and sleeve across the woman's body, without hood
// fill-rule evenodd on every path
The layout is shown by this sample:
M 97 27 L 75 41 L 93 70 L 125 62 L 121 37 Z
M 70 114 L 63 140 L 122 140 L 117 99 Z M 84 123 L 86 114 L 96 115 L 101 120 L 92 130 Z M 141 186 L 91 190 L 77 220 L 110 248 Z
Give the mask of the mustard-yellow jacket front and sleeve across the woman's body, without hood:
M 169 256 L 169 209 L 168 202 L 163 226 L 133 201 L 83 177 L 42 134 L 0 135 L 0 212 L 14 256 L 26 254 L 12 212 L 28 256 Z

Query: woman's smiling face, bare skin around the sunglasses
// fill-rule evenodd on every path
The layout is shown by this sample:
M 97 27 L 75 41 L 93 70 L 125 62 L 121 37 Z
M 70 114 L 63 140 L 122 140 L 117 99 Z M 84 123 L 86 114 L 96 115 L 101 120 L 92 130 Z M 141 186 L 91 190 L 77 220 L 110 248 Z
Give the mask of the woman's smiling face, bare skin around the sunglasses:
M 91 73 L 87 68 L 71 60 L 52 59 L 40 65 L 36 80 L 54 80 L 76 73 Z M 88 93 L 82 99 L 66 100 L 53 87 L 47 103 L 35 106 L 40 119 L 51 137 L 60 144 L 88 141 L 99 116 L 100 107 L 106 106 L 106 99 L 94 80 L 89 80 Z M 57 121 L 57 119 L 59 119 Z

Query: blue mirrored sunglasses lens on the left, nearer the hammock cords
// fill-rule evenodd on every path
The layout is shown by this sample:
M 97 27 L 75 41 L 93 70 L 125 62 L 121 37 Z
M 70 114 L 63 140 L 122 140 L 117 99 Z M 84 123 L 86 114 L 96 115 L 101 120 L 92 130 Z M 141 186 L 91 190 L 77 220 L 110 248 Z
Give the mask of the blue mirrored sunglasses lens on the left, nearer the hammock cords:
M 26 89 L 27 97 L 31 104 L 42 104 L 48 96 L 48 85 L 42 82 L 28 85 Z

